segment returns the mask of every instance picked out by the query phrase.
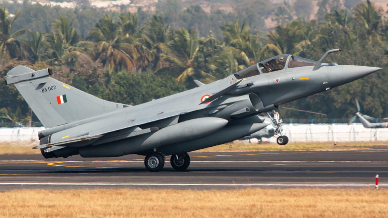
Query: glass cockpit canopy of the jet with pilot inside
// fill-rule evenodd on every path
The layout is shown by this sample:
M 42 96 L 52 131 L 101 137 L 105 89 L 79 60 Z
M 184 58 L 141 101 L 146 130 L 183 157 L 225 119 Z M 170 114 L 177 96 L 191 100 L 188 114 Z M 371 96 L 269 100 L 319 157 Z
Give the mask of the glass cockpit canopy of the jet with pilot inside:
M 241 70 L 234 75 L 237 79 L 243 79 L 260 75 L 261 73 L 270 73 L 278 70 L 294 67 L 315 66 L 317 61 L 301 58 L 294 55 L 278 55 L 264 61 L 261 61 L 255 65 L 252 65 L 244 70 Z

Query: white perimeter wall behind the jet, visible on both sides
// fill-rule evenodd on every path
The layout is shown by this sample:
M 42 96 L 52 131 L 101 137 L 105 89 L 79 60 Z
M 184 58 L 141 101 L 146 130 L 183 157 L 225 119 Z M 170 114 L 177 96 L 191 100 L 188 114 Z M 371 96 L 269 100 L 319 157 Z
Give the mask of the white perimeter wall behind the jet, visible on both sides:
M 38 131 L 44 127 L 0 128 L 0 142 L 38 141 Z M 320 141 L 388 141 L 388 128 L 368 129 L 361 123 L 344 124 L 284 124 L 283 133 L 290 142 Z M 276 138 L 269 139 L 276 142 Z

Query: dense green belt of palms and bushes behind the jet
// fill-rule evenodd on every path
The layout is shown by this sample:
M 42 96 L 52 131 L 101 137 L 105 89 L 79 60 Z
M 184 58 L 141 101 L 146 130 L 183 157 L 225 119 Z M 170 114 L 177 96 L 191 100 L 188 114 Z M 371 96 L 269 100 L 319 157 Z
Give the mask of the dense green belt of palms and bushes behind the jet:
M 53 68 L 54 78 L 100 98 L 140 104 L 209 83 L 278 54 L 325 62 L 385 67 L 384 70 L 321 94 L 284 105 L 312 110 L 329 118 L 351 117 L 355 98 L 362 111 L 388 116 L 388 17 L 370 1 L 318 2 L 292 5 L 268 0 L 236 1 L 232 12 L 205 12 L 199 5 L 160 0 L 150 13 L 104 12 L 3 3 L 0 9 L 0 78 L 17 65 Z M 356 4 L 357 3 L 357 4 Z M 304 8 L 304 10 L 300 10 Z M 125 9 L 125 8 L 123 8 Z M 12 13 L 12 15 L 11 15 Z M 298 15 L 298 18 L 296 15 Z M 267 29 L 264 22 L 277 23 Z M 279 109 L 285 118 L 320 118 Z M 31 121 L 32 112 L 13 86 L 0 86 L 0 117 Z M 33 121 L 37 121 L 33 116 Z M 30 123 L 25 125 L 30 125 Z

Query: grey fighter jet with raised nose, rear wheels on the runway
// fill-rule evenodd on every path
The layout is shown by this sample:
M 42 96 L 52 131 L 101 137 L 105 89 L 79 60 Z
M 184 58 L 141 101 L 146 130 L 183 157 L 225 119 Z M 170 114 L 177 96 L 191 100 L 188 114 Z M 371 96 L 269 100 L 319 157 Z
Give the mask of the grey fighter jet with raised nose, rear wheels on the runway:
M 149 171 L 164 167 L 171 155 L 176 170 L 190 165 L 188 152 L 227 143 L 268 125 L 254 116 L 271 114 L 280 133 L 278 106 L 365 77 L 382 68 L 347 66 L 294 55 L 278 55 L 210 84 L 129 106 L 108 102 L 50 77 L 52 69 L 17 66 L 7 73 L 46 129 L 39 131 L 45 158 L 146 156 Z

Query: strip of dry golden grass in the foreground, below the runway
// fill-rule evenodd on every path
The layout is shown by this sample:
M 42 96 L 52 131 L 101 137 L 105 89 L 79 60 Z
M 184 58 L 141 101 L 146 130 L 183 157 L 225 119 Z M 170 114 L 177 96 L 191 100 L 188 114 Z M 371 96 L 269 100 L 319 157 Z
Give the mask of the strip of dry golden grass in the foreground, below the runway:
M 14 190 L 0 217 L 387 217 L 388 190 Z

